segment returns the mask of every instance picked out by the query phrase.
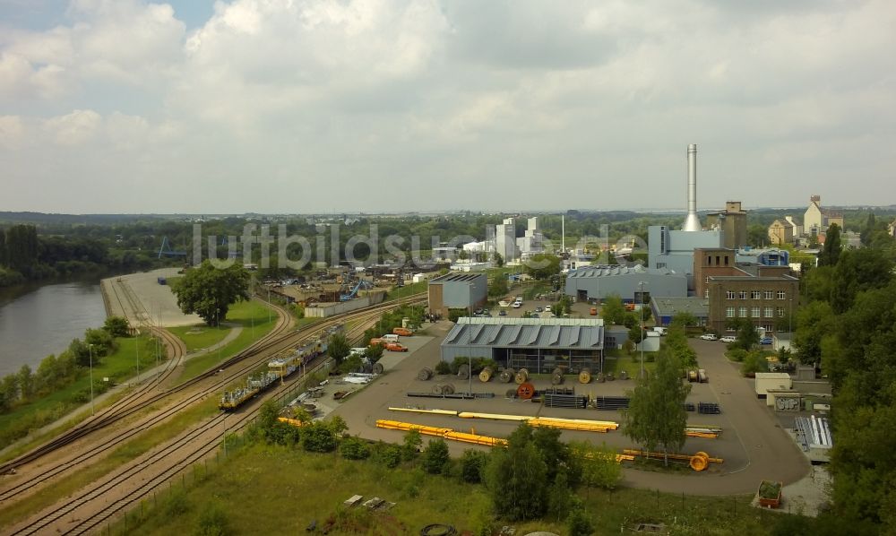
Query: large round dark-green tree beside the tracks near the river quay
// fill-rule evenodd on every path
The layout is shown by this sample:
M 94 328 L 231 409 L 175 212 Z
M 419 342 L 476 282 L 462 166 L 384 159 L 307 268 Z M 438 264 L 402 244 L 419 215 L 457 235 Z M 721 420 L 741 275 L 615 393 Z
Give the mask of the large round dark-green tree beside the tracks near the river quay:
M 188 270 L 171 290 L 185 314 L 196 313 L 205 324 L 218 325 L 227 318 L 232 304 L 249 299 L 250 280 L 249 272 L 239 264 L 216 268 L 206 260 Z

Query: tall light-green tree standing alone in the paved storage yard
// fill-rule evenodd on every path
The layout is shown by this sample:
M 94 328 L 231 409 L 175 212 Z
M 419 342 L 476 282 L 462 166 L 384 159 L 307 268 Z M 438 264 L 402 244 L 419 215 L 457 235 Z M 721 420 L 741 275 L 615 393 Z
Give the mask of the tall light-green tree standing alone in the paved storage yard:
M 675 355 L 658 359 L 656 372 L 638 378 L 638 385 L 629 393 L 625 435 L 648 451 L 658 447 L 663 454 L 679 450 L 685 445 L 685 399 L 690 392 L 691 385 L 682 382 L 681 365 Z M 668 458 L 665 461 L 668 464 Z

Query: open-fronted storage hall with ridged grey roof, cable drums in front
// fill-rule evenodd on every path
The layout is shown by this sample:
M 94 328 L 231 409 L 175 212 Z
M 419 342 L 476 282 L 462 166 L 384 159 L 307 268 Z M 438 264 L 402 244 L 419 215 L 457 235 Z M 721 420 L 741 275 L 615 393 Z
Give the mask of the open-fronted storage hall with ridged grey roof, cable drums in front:
M 603 371 L 604 324 L 599 318 L 460 318 L 442 342 L 442 360 L 495 359 L 514 370 L 550 374 L 565 367 Z

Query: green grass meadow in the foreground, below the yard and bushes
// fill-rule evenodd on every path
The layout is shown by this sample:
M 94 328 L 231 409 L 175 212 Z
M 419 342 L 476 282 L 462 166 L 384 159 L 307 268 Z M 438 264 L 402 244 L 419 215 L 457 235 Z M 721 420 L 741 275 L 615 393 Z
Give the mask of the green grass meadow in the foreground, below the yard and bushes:
M 138 509 L 126 526 L 117 523 L 111 532 L 189 533 L 214 520 L 223 521 L 235 534 L 293 534 L 304 532 L 313 520 L 320 528 L 356 494 L 396 503 L 385 514 L 353 509 L 350 519 L 363 527 L 354 533 L 364 534 L 416 534 L 429 523 L 476 530 L 477 519 L 489 507 L 485 488 L 456 478 L 406 467 L 386 469 L 373 461 L 351 462 L 338 454 L 252 445 L 217 466 L 211 464 L 208 471 L 199 468 L 185 486 L 176 485 L 148 501 L 142 515 Z M 618 534 L 620 527 L 631 529 L 635 523 L 666 523 L 676 534 L 758 535 L 767 534 L 786 515 L 750 507 L 751 496 L 685 497 L 632 488 L 582 490 L 579 496 L 597 534 Z M 495 523 L 504 524 L 515 526 L 518 534 L 566 532 L 564 523 L 554 520 Z

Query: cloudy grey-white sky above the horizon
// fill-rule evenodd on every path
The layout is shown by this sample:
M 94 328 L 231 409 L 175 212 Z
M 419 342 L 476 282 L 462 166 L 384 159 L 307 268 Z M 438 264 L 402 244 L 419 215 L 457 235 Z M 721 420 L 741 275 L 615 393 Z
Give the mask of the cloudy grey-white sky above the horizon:
M 0 211 L 896 203 L 892 0 L 0 0 Z

